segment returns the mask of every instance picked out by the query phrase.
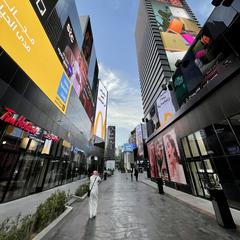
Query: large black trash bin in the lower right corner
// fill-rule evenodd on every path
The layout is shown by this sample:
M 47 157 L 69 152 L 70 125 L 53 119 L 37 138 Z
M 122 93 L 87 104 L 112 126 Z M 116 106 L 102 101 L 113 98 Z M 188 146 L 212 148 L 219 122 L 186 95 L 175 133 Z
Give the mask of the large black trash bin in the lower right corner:
M 222 189 L 208 188 L 217 223 L 224 228 L 236 228 L 227 199 Z

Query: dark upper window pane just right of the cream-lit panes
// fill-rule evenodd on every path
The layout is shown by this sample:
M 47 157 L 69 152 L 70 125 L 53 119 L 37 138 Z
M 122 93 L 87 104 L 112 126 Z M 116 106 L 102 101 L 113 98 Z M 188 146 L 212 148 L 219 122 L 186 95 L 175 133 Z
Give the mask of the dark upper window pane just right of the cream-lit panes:
M 228 122 L 224 120 L 219 124 L 214 124 L 214 127 L 225 153 L 230 155 L 239 154 L 240 147 Z

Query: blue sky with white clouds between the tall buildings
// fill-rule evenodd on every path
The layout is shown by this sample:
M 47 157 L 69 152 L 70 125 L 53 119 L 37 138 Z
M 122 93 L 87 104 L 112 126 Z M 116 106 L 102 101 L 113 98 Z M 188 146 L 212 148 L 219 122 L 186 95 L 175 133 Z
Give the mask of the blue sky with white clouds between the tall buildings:
M 143 117 L 135 49 L 138 0 L 75 0 L 79 15 L 90 15 L 100 78 L 109 91 L 108 125 L 122 145 Z M 211 0 L 188 0 L 201 24 Z

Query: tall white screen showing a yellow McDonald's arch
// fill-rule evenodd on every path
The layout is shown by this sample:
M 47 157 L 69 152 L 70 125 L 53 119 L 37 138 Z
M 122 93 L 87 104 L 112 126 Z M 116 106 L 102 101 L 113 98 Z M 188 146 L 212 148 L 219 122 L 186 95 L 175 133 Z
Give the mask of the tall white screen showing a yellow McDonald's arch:
M 93 126 L 93 135 L 105 139 L 108 92 L 101 81 L 98 85 L 97 106 Z

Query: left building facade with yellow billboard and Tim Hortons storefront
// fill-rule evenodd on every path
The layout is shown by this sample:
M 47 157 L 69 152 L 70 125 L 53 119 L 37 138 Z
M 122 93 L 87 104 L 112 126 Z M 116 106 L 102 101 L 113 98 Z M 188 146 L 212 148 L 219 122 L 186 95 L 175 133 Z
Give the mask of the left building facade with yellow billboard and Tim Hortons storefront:
M 81 179 L 98 79 L 75 1 L 8 1 L 0 20 L 0 202 Z M 10 24 L 11 23 L 11 24 Z M 95 80 L 94 80 L 95 79 Z

